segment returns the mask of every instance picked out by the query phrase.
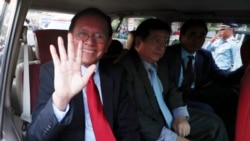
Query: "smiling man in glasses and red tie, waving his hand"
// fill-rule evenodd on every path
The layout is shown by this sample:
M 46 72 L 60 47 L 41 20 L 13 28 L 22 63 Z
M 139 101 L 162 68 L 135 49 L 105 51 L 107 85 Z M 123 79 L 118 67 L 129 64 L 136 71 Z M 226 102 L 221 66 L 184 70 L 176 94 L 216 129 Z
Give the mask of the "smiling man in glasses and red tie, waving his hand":
M 27 131 L 30 141 L 140 140 L 139 122 L 122 83 L 121 67 L 99 61 L 108 49 L 111 35 L 110 18 L 96 8 L 88 8 L 71 21 L 67 52 L 60 37 L 59 54 L 54 46 L 50 47 L 53 63 L 41 68 L 39 97 Z M 90 105 L 91 76 L 97 91 L 93 88 L 90 94 L 99 97 L 102 106 L 98 110 L 103 109 L 103 118 L 92 116 L 91 109 L 97 104 Z M 99 129 L 94 123 L 101 119 L 108 123 L 102 122 L 107 128 L 96 132 Z M 100 138 L 100 134 L 104 136 Z

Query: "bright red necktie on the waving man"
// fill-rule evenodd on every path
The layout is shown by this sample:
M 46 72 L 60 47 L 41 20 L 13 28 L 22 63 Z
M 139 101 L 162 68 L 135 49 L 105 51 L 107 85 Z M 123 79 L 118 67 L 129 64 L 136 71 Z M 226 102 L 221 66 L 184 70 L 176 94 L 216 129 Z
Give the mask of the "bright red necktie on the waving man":
M 96 141 L 115 141 L 116 139 L 114 137 L 114 134 L 104 114 L 99 93 L 93 80 L 93 76 L 94 75 L 90 77 L 87 83 L 86 93 L 90 118 Z

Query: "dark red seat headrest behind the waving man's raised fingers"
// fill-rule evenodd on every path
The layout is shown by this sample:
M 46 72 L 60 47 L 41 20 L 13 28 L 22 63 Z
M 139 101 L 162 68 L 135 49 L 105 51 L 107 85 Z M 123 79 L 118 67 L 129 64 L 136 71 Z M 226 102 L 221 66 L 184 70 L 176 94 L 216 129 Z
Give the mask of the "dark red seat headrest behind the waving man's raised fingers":
M 36 55 L 40 60 L 41 64 L 52 60 L 49 46 L 53 44 L 58 51 L 57 38 L 61 36 L 64 41 L 64 45 L 67 45 L 67 30 L 58 29 L 43 29 L 36 30 L 35 40 L 36 40 Z

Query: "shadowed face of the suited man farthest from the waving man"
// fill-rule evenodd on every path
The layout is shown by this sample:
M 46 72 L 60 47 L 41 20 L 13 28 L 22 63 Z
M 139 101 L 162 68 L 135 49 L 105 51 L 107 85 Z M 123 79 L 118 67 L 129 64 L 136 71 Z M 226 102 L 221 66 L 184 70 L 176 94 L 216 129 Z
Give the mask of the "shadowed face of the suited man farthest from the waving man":
M 206 38 L 206 30 L 202 27 L 191 27 L 181 35 L 181 44 L 188 52 L 194 53 L 199 50 Z

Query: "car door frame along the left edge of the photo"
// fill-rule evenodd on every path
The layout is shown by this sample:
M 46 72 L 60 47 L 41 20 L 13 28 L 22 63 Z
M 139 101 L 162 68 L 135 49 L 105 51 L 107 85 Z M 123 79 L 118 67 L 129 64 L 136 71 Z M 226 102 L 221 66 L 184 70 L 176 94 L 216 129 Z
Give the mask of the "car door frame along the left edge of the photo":
M 0 140 L 23 140 L 22 122 L 12 114 L 10 97 L 22 25 L 30 3 L 0 0 Z

